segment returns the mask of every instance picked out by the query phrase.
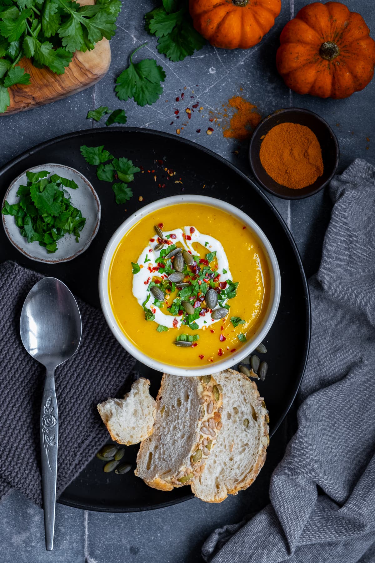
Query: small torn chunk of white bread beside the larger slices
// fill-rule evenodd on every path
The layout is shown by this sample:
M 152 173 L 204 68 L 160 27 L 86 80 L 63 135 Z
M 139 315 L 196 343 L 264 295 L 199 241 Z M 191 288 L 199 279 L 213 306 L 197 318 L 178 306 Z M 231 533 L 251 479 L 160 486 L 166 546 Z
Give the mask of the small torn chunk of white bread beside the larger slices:
M 134 381 L 124 399 L 108 399 L 98 404 L 98 411 L 112 440 L 130 446 L 146 440 L 155 423 L 156 402 L 143 377 Z

